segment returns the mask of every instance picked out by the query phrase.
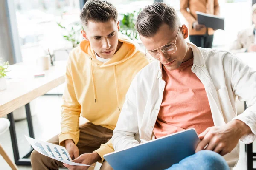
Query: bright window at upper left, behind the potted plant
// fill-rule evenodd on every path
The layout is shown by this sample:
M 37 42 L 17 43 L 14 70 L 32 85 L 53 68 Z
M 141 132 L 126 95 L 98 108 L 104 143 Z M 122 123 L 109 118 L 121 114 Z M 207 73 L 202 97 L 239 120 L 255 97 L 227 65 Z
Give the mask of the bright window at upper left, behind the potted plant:
M 72 47 L 57 22 L 79 22 L 79 0 L 15 0 L 15 8 L 23 61 L 45 55 L 48 48 Z

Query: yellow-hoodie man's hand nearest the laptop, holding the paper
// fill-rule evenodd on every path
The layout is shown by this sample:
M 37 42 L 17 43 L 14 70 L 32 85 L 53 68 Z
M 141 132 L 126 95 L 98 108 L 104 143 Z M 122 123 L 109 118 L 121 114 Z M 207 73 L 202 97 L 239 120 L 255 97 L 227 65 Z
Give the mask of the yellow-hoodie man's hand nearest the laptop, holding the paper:
M 95 163 L 96 161 L 99 161 L 101 157 L 98 153 L 85 153 L 80 155 L 77 159 L 73 160 L 73 162 L 79 163 L 79 164 L 87 164 L 91 165 Z M 63 164 L 65 167 L 67 167 L 69 170 L 87 170 L 89 167 L 85 166 L 73 166 L 68 164 Z

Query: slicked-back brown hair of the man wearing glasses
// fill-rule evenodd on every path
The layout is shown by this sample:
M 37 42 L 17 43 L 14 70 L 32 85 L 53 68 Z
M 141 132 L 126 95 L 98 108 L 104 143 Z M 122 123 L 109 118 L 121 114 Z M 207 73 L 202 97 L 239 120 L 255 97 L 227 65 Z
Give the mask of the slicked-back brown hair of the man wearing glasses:
M 140 12 L 136 21 L 136 29 L 146 38 L 153 37 L 160 26 L 166 23 L 171 29 L 180 26 L 180 19 L 175 9 L 165 3 L 153 3 Z

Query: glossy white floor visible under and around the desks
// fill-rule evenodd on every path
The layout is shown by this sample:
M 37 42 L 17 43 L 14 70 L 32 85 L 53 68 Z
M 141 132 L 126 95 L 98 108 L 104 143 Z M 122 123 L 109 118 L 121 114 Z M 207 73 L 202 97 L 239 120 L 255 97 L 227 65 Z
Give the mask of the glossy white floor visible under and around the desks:
M 35 138 L 46 141 L 52 136 L 60 132 L 60 106 L 62 100 L 61 96 L 41 96 L 35 99 L 35 115 L 32 117 Z M 84 120 L 83 120 L 84 121 Z M 20 156 L 24 156 L 29 150 L 30 145 L 26 141 L 24 135 L 29 136 L 26 120 L 15 122 L 16 133 L 18 139 L 18 147 Z M 12 143 L 9 131 L 0 136 L 0 143 L 6 150 L 7 154 L 13 159 Z M 254 144 L 256 146 L 256 144 Z M 240 148 L 240 160 L 234 170 L 246 170 L 246 157 L 244 152 L 244 144 Z M 99 166 L 99 165 L 98 165 Z M 31 167 L 18 166 L 19 170 L 31 170 Z M 96 166 L 97 167 L 97 166 Z M 254 165 L 256 167 L 256 164 Z M 98 169 L 98 167 L 96 168 Z M 11 170 L 8 164 L 0 156 L 0 170 Z

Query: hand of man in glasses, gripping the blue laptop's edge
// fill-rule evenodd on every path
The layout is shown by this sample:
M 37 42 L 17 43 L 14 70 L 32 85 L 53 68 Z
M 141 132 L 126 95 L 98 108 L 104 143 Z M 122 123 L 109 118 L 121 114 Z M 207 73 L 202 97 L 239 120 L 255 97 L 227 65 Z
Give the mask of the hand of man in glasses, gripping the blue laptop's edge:
M 250 127 L 240 120 L 233 120 L 224 126 L 209 127 L 198 136 L 201 142 L 195 152 L 212 150 L 224 156 L 236 147 L 242 136 L 249 133 L 252 133 Z

